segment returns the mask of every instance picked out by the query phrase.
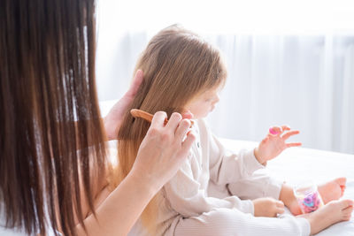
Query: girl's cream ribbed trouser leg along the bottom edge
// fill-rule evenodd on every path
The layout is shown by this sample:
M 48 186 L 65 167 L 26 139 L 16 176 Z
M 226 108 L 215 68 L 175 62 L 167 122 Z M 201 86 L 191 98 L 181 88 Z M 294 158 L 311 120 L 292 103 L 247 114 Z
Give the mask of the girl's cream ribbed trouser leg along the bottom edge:
M 215 209 L 199 217 L 182 218 L 173 233 L 204 236 L 309 236 L 311 225 L 302 217 L 253 217 L 235 209 Z

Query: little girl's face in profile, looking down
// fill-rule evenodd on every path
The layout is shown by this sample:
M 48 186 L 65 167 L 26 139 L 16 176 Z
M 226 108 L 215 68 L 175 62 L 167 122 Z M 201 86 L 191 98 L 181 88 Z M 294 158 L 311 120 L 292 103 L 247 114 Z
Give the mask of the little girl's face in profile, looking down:
M 192 112 L 193 118 L 205 118 L 219 102 L 220 90 L 221 88 L 212 88 L 201 95 L 197 95 L 187 104 L 186 110 Z

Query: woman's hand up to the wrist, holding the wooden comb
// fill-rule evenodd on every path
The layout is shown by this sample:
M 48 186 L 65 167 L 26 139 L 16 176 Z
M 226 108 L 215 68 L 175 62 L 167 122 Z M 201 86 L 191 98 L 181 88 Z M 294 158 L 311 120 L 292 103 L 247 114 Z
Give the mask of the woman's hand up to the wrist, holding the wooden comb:
M 190 121 L 186 118 L 191 118 L 190 113 L 183 114 L 183 117 L 185 118 L 182 119 L 179 113 L 173 113 L 164 126 L 166 114 L 158 111 L 140 145 L 129 174 L 147 181 L 152 191 L 158 191 L 173 178 L 196 140 L 195 135 L 189 133 Z

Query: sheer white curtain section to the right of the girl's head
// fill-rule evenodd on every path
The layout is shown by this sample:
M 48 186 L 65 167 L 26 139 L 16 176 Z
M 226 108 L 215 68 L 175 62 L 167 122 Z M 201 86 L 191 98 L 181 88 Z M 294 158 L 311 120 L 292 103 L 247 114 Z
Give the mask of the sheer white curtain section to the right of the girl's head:
M 210 37 L 229 77 L 209 120 L 227 138 L 260 141 L 288 124 L 304 147 L 354 153 L 354 37 Z

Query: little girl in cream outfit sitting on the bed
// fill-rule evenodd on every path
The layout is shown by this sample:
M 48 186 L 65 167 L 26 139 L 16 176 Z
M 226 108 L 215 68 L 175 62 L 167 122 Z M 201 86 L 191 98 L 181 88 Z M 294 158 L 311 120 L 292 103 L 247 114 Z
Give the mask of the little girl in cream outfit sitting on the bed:
M 112 172 L 112 185 L 132 168 L 150 126 L 133 118 L 130 109 L 152 114 L 165 110 L 170 120 L 181 119 L 173 112 L 189 110 L 196 119 L 191 130 L 197 137 L 189 159 L 142 213 L 142 234 L 309 235 L 349 220 L 353 202 L 330 202 L 342 196 L 345 179 L 319 187 L 324 201 L 330 202 L 323 208 L 299 217 L 276 218 L 284 204 L 293 214 L 300 214 L 293 189 L 257 170 L 283 149 L 299 146 L 286 143 L 298 132 L 275 127 L 279 133 L 268 134 L 258 148 L 238 155 L 227 153 L 203 120 L 219 102 L 227 71 L 219 51 L 196 34 L 175 26 L 165 28 L 151 39 L 136 68 L 142 69 L 144 80 L 119 129 L 119 167 Z M 229 184 L 242 199 L 210 195 L 210 186 L 225 190 Z

